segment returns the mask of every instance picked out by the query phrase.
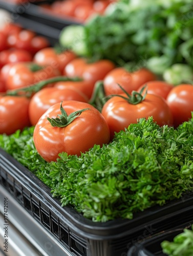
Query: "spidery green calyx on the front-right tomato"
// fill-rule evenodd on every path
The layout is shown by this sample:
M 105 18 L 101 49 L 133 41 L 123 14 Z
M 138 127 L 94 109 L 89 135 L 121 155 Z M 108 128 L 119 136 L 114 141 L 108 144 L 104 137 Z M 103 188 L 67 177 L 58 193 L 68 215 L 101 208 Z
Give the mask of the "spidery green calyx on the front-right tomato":
M 136 92 L 136 91 L 133 91 L 131 94 L 127 93 L 124 88 L 122 88 L 120 86 L 120 84 L 118 84 L 118 86 L 121 88 L 121 90 L 126 94 L 127 97 L 121 95 L 121 94 L 111 94 L 109 95 L 108 97 L 114 97 L 114 96 L 118 96 L 118 97 L 121 97 L 123 99 L 125 99 L 128 103 L 130 104 L 133 104 L 133 105 L 137 105 L 139 104 L 140 102 L 142 102 L 146 95 L 147 95 L 147 89 L 146 89 L 146 86 L 144 86 L 140 92 Z M 143 91 L 146 89 L 144 95 L 142 95 Z

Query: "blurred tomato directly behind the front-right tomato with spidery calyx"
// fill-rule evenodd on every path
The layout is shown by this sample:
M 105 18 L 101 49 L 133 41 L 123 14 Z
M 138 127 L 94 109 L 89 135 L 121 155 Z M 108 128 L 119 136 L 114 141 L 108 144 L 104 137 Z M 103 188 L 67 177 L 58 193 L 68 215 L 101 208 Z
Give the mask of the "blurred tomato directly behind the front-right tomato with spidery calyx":
M 120 84 L 127 93 L 132 93 L 145 82 L 152 80 L 156 80 L 156 76 L 147 69 L 142 68 L 136 72 L 128 72 L 119 67 L 104 77 L 104 92 L 105 95 L 121 94 L 122 90 L 118 86 Z

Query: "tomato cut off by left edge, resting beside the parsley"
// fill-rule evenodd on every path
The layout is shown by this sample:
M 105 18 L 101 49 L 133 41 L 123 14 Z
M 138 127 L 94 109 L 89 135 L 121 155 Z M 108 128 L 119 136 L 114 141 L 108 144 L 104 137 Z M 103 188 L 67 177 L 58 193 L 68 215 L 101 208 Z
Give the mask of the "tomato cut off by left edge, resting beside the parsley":
M 30 125 L 29 103 L 26 97 L 0 97 L 0 134 L 10 135 Z

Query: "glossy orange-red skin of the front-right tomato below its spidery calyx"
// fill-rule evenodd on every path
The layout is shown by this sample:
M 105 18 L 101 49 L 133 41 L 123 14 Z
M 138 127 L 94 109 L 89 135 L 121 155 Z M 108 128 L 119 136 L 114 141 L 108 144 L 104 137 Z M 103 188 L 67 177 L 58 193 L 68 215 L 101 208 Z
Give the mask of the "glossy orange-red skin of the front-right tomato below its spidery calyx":
M 126 94 L 121 94 L 126 97 Z M 114 96 L 102 108 L 102 115 L 108 122 L 111 139 L 115 132 L 124 131 L 131 123 L 137 123 L 140 118 L 153 116 L 160 126 L 173 125 L 173 115 L 166 101 L 157 95 L 147 94 L 138 104 L 130 104 L 125 99 Z

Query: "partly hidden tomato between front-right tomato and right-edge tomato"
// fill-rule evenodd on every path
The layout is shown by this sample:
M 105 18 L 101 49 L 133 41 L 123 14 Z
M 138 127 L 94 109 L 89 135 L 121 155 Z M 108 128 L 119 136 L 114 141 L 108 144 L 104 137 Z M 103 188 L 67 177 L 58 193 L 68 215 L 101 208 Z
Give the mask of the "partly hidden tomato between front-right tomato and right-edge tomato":
M 164 99 L 166 99 L 171 89 L 174 88 L 173 84 L 167 83 L 165 81 L 149 81 L 144 83 L 138 89 L 138 92 L 140 92 L 144 86 L 146 86 L 148 94 L 155 94 L 163 97 Z

